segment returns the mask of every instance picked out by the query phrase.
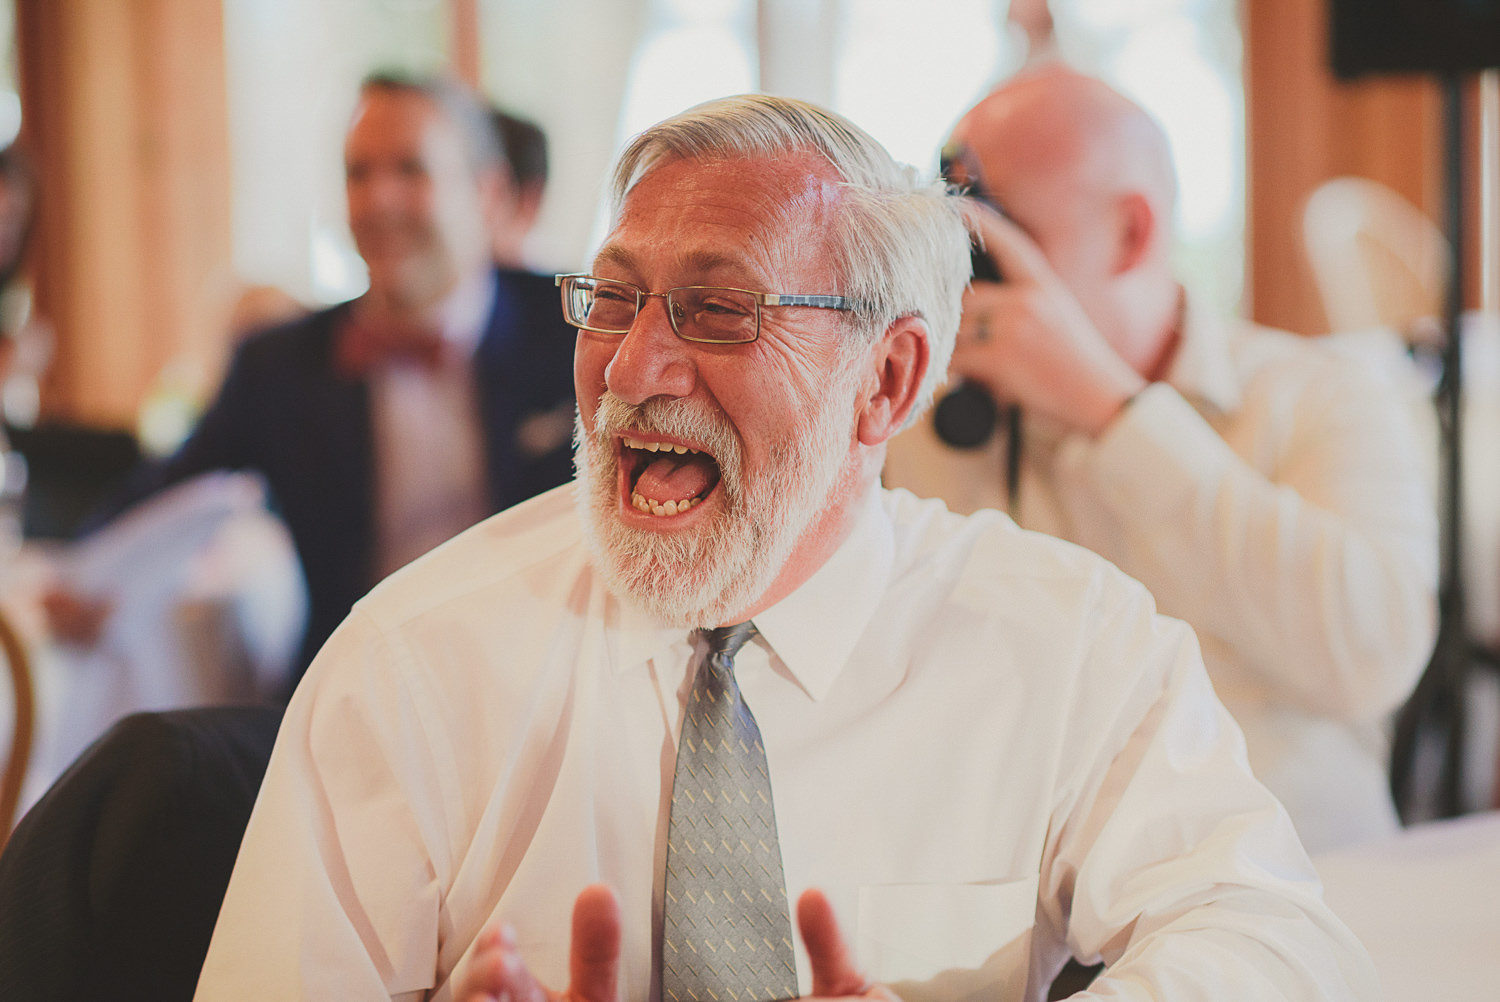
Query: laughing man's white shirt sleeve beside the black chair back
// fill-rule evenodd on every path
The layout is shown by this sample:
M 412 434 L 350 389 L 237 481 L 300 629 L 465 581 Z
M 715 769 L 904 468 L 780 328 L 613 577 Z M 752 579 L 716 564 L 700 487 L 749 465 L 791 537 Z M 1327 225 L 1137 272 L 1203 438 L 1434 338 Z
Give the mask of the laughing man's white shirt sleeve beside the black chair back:
M 434 987 L 453 782 L 399 648 L 356 610 L 278 734 L 198 999 Z

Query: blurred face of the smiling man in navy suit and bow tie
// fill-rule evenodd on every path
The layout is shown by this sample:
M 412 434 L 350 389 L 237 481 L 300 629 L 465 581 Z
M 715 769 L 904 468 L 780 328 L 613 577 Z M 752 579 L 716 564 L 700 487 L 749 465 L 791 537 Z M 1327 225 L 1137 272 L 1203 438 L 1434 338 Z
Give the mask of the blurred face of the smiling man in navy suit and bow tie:
M 486 178 L 458 126 L 428 98 L 369 90 L 344 144 L 350 230 L 370 291 L 420 309 L 488 260 Z

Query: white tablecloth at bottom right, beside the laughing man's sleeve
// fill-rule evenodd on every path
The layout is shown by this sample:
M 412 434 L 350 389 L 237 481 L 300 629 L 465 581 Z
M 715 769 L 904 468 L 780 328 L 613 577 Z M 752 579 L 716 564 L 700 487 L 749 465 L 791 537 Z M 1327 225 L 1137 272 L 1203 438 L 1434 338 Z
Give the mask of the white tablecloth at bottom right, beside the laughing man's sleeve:
M 1407 828 L 1314 860 L 1386 1002 L 1500 999 L 1500 812 Z

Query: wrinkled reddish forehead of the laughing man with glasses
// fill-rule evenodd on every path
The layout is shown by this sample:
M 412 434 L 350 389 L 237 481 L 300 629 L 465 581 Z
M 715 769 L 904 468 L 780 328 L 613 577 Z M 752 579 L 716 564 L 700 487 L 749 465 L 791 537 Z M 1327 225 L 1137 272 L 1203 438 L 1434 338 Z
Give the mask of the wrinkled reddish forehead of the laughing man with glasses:
M 842 180 L 816 153 L 670 158 L 626 192 L 600 255 L 615 256 L 650 231 L 696 256 L 717 250 L 782 276 L 826 274 L 843 208 Z

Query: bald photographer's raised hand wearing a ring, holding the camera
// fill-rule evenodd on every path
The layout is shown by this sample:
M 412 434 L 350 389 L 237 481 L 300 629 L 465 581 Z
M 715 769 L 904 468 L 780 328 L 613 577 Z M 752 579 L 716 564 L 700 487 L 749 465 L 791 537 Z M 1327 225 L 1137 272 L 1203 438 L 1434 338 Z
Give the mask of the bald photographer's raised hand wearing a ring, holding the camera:
M 1016 224 L 974 204 L 969 225 L 1005 280 L 976 282 L 964 292 L 954 375 L 1000 402 L 1098 435 L 1146 380 L 1110 346 Z

